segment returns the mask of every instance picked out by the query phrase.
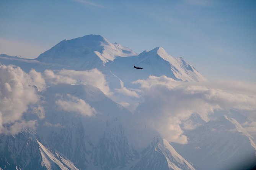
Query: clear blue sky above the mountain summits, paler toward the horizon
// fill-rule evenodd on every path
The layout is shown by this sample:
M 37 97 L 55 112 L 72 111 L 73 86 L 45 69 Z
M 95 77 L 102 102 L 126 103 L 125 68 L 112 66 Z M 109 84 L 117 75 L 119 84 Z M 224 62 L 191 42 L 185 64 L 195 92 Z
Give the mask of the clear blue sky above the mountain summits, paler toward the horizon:
M 137 53 L 161 46 L 210 80 L 256 82 L 255 0 L 1 0 L 0 27 L 8 55 L 100 34 Z

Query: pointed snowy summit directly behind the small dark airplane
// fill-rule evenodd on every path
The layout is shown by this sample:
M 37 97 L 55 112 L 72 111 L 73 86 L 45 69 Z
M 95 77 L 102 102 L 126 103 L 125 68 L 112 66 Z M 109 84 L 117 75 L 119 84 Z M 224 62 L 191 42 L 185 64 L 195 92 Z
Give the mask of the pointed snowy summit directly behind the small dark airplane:
M 161 47 L 144 51 L 138 56 L 116 58 L 113 62 L 107 63 L 106 66 L 128 87 L 134 86 L 132 85 L 133 81 L 147 79 L 149 75 L 166 75 L 174 80 L 182 81 L 206 80 L 183 58 L 174 58 Z M 134 69 L 133 66 L 142 67 L 143 70 Z

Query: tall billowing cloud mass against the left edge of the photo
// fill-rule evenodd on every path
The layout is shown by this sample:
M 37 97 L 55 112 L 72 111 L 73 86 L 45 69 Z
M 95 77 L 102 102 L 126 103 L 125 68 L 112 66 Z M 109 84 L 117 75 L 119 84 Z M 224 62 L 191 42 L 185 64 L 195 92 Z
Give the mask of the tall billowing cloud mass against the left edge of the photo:
M 29 104 L 39 101 L 31 77 L 20 67 L 0 67 L 0 133 L 17 133 L 25 127 L 34 127 L 35 122 L 22 120 Z

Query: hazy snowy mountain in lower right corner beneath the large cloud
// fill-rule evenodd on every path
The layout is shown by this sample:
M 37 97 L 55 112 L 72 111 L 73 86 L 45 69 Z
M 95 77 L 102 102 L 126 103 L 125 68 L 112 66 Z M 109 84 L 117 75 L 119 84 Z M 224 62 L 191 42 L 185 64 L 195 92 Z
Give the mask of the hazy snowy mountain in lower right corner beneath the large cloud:
M 256 145 L 233 118 L 221 116 L 185 134 L 188 144 L 174 148 L 199 170 L 249 170 L 256 165 Z

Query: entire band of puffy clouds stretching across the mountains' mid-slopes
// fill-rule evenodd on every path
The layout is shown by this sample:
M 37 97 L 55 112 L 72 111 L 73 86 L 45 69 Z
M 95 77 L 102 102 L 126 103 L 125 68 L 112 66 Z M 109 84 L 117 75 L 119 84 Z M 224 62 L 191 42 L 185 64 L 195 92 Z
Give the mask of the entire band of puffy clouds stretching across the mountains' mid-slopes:
M 97 69 L 90 71 L 45 70 L 43 73 L 34 69 L 26 74 L 20 67 L 0 67 L 0 133 L 16 134 L 24 128 L 35 128 L 36 120 L 25 121 L 23 114 L 30 107 L 33 114 L 44 119 L 44 107 L 40 105 L 38 91 L 46 90 L 59 83 L 84 84 L 98 87 L 108 96 L 113 95 L 108 83 Z M 187 136 L 183 130 L 196 128 L 189 118 L 197 113 L 204 121 L 215 110 L 236 109 L 252 115 L 256 112 L 256 88 L 254 85 L 238 82 L 179 82 L 166 76 L 150 76 L 147 80 L 133 83 L 140 89 L 130 90 L 122 85 L 115 91 L 124 96 L 133 97 L 137 109 L 136 119 L 147 127 L 157 130 L 168 141 L 185 144 Z M 96 114 L 83 99 L 72 95 L 61 96 L 56 102 L 58 109 L 85 116 Z M 129 107 L 134 103 L 122 101 Z M 244 124 L 245 129 L 253 133 L 255 121 Z M 255 135 L 255 134 L 254 134 Z

